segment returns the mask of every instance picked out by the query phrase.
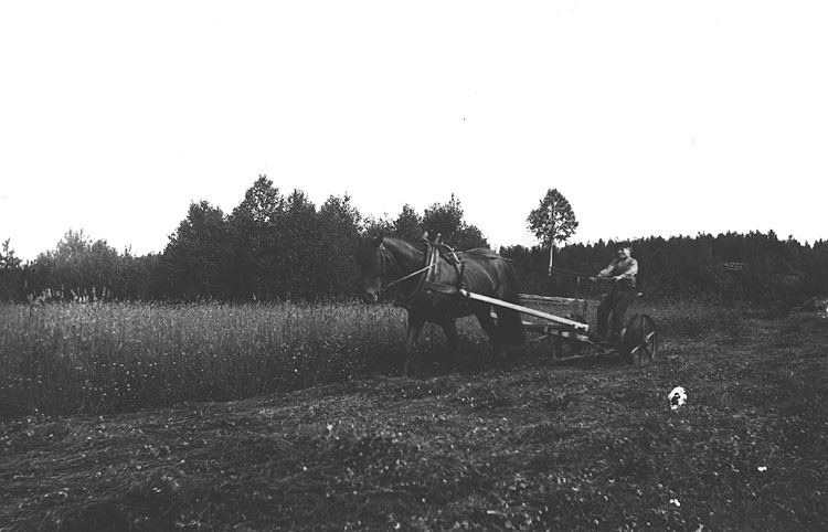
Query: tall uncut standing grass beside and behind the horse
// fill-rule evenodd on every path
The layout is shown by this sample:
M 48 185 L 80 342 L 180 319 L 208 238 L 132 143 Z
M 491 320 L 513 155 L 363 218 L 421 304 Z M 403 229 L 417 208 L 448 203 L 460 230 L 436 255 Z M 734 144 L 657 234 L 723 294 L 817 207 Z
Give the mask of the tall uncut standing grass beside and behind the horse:
M 564 316 L 566 309 L 548 308 Z M 701 305 L 630 310 L 661 332 L 713 327 Z M 588 308 L 594 321 L 594 304 Z M 488 352 L 474 319 L 460 320 L 468 360 Z M 427 328 L 417 349 L 443 345 Z M 0 306 L 0 418 L 112 413 L 184 401 L 225 401 L 395 373 L 405 312 L 364 305 L 60 304 Z M 530 354 L 546 345 L 530 343 Z

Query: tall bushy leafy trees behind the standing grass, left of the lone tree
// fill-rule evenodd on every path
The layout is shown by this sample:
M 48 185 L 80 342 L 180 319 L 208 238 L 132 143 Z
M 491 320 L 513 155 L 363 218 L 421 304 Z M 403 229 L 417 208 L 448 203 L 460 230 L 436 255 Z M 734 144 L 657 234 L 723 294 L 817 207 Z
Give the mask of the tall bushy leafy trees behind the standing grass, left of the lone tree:
M 330 300 L 355 294 L 358 238 L 438 233 L 458 248 L 487 246 L 464 220 L 457 198 L 421 214 L 363 216 L 348 195 L 316 206 L 300 190 L 283 194 L 266 175 L 224 213 L 190 204 L 162 253 L 118 253 L 105 240 L 70 230 L 55 249 L 22 264 L 7 241 L 0 253 L 0 300 Z

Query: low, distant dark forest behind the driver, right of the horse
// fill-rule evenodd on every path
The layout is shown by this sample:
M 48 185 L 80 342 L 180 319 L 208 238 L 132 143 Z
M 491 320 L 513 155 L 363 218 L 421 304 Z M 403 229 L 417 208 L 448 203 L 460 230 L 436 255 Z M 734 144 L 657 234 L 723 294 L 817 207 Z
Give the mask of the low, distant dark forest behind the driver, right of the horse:
M 648 298 L 790 308 L 809 297 L 828 295 L 828 241 L 802 244 L 769 231 L 651 236 L 631 244 L 639 265 L 638 287 Z M 563 246 L 555 253 L 551 277 L 546 249 L 510 246 L 500 253 L 514 259 L 524 291 L 588 297 L 606 289 L 586 277 L 609 263 L 615 243 Z

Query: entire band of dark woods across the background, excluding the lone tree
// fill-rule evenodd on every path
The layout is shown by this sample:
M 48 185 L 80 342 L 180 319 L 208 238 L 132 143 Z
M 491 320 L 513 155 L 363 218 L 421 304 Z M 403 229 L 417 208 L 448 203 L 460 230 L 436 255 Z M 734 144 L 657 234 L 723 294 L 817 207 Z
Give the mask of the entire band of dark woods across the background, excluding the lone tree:
M 330 300 L 355 295 L 358 240 L 383 232 L 408 240 L 427 232 L 456 249 L 487 246 L 464 219 L 454 195 L 421 214 L 405 205 L 395 219 L 363 216 L 350 198 L 320 206 L 295 190 L 283 194 L 261 175 L 231 213 L 206 201 L 192 203 L 163 252 L 135 256 L 68 231 L 55 249 L 33 262 L 0 249 L 0 300 L 253 301 Z M 522 290 L 595 296 L 585 279 L 613 257 L 613 242 L 563 245 L 548 275 L 549 249 L 508 246 Z M 793 307 L 828 295 L 828 242 L 802 244 L 773 232 L 633 241 L 639 285 L 654 298 L 752 301 Z

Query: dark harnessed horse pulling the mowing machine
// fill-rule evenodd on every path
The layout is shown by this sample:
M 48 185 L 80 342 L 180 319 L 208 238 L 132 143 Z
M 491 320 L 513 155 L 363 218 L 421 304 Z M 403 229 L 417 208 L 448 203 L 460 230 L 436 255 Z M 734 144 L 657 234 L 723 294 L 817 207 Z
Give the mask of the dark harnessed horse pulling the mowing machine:
M 364 238 L 357 252 L 364 297 L 371 302 L 394 286 L 394 305 L 408 310 L 405 337 L 405 365 L 408 374 L 412 347 L 426 321 L 443 328 L 450 349 L 457 347 L 457 318 L 475 315 L 489 337 L 495 353 L 503 358 L 508 345 L 523 341 L 523 326 L 514 310 L 467 299 L 460 288 L 470 292 L 519 305 L 511 264 L 486 248 L 454 253 L 445 246 L 423 241 L 411 244 L 394 237 Z

